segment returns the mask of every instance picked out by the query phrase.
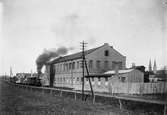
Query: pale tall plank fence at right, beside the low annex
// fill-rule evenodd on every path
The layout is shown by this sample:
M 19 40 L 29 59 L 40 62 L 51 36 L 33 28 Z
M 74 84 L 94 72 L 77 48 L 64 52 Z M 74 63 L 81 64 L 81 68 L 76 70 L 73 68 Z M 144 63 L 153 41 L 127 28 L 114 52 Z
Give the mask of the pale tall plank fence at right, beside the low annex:
M 110 83 L 110 93 L 162 94 L 167 93 L 167 82 L 160 83 Z

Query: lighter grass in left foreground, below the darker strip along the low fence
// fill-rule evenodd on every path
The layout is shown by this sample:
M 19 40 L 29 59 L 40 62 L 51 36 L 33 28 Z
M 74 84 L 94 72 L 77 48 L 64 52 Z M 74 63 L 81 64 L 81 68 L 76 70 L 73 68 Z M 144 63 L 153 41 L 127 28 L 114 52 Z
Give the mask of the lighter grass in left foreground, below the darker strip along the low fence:
M 93 105 L 68 97 L 11 87 L 1 81 L 0 115 L 125 115 L 125 113 L 107 105 Z

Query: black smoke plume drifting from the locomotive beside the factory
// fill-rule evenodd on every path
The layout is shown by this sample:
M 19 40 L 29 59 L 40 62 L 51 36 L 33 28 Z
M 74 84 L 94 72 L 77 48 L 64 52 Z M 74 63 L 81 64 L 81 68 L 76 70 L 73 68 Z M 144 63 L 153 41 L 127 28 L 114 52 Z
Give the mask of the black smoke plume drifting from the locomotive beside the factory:
M 61 55 L 65 55 L 67 54 L 68 49 L 65 47 L 60 47 L 57 50 L 55 49 L 50 49 L 50 50 L 46 50 L 44 49 L 43 53 L 40 54 L 38 56 L 38 58 L 36 59 L 36 65 L 37 65 L 37 72 L 38 75 L 41 74 L 41 69 L 42 67 L 52 58 L 54 57 L 58 57 Z

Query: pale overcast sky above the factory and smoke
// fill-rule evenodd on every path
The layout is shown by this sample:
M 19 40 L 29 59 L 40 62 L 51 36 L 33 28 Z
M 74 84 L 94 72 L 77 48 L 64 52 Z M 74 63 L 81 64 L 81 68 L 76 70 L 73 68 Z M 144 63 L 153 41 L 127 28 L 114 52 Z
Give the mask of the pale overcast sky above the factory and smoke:
M 165 0 L 1 0 L 0 74 L 36 71 L 43 49 L 109 43 L 132 62 L 166 61 Z M 2 7 L 3 6 L 3 7 Z

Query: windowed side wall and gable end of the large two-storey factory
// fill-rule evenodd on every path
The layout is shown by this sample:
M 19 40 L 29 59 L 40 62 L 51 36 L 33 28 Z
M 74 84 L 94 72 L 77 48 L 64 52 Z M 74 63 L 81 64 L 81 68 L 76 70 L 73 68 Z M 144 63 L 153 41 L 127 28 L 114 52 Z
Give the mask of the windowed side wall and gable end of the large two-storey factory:
M 126 68 L 126 57 L 112 46 L 104 45 L 85 51 L 86 65 L 89 74 L 101 74 L 108 70 Z M 54 86 L 81 88 L 82 84 L 82 52 L 59 57 L 46 65 L 46 74 L 51 75 L 50 65 L 54 68 Z M 85 75 L 86 73 L 86 68 Z M 85 79 L 85 83 L 88 81 Z

